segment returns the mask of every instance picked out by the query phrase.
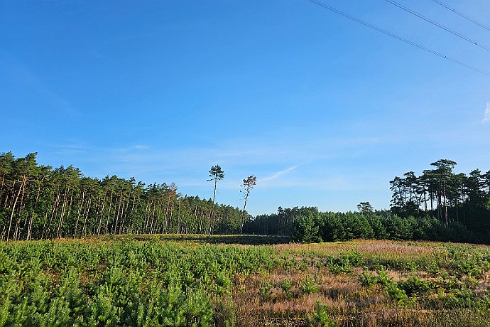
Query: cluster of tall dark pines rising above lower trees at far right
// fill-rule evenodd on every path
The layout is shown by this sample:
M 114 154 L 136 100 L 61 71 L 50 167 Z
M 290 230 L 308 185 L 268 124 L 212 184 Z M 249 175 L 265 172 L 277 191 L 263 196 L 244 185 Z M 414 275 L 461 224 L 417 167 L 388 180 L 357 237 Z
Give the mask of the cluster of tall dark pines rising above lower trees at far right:
M 430 215 L 446 225 L 456 221 L 472 230 L 490 229 L 490 171 L 454 173 L 456 162 L 441 159 L 420 176 L 413 171 L 390 181 L 391 212 L 401 217 Z

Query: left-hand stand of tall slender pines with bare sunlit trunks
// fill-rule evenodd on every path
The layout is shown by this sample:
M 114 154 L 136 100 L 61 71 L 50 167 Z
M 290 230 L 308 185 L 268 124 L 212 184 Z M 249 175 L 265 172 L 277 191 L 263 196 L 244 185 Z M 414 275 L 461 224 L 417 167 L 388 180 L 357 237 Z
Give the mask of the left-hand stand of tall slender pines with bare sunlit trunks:
M 175 183 L 99 180 L 73 166 L 38 165 L 36 155 L 0 154 L 1 240 L 240 232 L 242 210 L 181 195 Z

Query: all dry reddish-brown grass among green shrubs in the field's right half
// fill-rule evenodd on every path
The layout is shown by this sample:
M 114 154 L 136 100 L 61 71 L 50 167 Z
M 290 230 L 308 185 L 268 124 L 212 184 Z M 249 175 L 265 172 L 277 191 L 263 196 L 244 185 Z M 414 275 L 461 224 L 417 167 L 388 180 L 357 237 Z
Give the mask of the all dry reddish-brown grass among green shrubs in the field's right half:
M 240 287 L 233 292 L 237 326 L 305 326 L 317 303 L 326 305 L 327 313 L 336 326 L 490 326 L 490 311 L 482 315 L 478 309 L 430 309 L 417 301 L 409 306 L 399 306 L 397 301 L 388 298 L 381 286 L 361 285 L 359 276 L 365 270 L 362 267 L 353 267 L 350 273 L 332 274 L 327 267 L 315 267 L 314 264 L 317 259 L 354 250 L 366 260 L 392 264 L 388 278 L 393 282 L 405 281 L 414 275 L 425 281 L 434 281 L 433 274 L 423 269 L 406 269 L 403 266 L 443 257 L 439 255 L 445 252 L 441 243 L 354 240 L 273 247 L 281 257 L 288 255 L 298 262 L 306 258 L 308 267 L 278 268 L 267 275 L 255 274 L 241 279 Z M 489 247 L 480 248 L 490 250 Z M 372 273 L 376 275 L 376 270 Z M 315 278 L 317 292 L 306 294 L 301 290 L 302 282 Z M 289 296 L 281 288 L 284 281 L 292 284 Z M 266 298 L 260 294 L 264 283 L 271 287 Z M 475 294 L 489 294 L 490 272 L 478 280 L 474 291 Z

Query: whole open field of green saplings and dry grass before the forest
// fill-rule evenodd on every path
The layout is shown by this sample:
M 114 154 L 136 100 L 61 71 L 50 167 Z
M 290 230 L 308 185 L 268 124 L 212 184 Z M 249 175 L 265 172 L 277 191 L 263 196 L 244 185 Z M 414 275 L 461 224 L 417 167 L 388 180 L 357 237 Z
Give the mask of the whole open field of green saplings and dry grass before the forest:
M 0 326 L 490 326 L 490 247 L 284 241 L 4 242 Z

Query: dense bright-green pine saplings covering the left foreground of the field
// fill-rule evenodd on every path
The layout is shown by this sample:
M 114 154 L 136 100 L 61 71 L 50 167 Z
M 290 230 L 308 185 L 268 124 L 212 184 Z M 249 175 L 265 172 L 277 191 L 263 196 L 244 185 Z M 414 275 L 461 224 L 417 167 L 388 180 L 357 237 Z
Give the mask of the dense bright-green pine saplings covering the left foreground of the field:
M 232 276 L 278 267 L 267 247 L 0 244 L 0 326 L 211 326 Z M 234 325 L 233 304 L 227 326 Z

